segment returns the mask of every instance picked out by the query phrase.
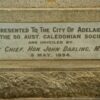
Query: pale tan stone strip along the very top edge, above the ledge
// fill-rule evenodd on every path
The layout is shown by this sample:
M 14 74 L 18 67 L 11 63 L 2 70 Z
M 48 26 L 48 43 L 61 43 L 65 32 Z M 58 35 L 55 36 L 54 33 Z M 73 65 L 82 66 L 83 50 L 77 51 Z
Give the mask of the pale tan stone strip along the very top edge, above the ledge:
M 0 0 L 0 7 L 47 8 L 47 7 L 100 7 L 100 0 Z

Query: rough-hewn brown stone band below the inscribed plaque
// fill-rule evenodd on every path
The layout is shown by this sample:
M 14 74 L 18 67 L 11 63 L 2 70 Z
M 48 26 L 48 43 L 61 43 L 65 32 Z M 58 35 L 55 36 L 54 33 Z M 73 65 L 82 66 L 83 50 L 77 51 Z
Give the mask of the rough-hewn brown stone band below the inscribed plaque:
M 2 72 L 0 98 L 100 97 L 100 72 Z

